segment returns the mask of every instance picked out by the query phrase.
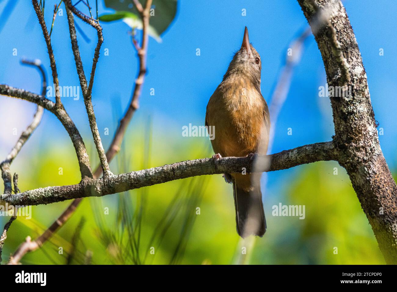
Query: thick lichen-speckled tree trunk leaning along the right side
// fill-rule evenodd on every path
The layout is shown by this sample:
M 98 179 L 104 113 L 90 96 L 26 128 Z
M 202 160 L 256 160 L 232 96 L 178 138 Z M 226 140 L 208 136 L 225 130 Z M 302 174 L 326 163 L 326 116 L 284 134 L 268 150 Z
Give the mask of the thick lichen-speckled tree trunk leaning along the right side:
M 397 186 L 380 149 L 367 75 L 341 1 L 298 0 L 316 38 L 328 86 L 350 86 L 331 97 L 338 161 L 350 176 L 386 263 L 397 263 Z

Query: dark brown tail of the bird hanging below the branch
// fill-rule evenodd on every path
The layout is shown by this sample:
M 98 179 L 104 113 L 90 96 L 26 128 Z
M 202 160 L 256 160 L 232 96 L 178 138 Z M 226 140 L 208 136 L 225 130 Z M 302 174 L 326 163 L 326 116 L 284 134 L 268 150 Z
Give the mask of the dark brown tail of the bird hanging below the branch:
M 262 237 L 266 232 L 266 219 L 263 210 L 260 183 L 244 190 L 238 180 L 233 180 L 233 197 L 236 209 L 237 233 L 242 238 L 251 234 Z

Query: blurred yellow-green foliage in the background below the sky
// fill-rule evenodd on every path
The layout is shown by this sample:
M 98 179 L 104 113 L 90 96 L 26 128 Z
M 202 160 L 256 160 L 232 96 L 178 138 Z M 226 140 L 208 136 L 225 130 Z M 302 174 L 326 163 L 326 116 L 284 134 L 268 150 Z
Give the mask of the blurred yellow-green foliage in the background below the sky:
M 212 153 L 204 137 L 170 139 L 169 133 L 153 132 L 150 122 L 137 123 L 142 126 L 127 133 L 112 170 L 128 172 Z M 31 168 L 21 169 L 19 188 L 79 182 L 77 161 L 69 146 L 48 145 L 31 161 L 24 161 Z M 95 160 L 94 146 L 89 146 Z M 63 175 L 58 174 L 59 167 Z M 266 234 L 243 242 L 235 230 L 231 186 L 221 175 L 86 198 L 50 242 L 27 254 L 22 263 L 384 264 L 350 180 L 336 162 L 298 166 L 276 193 L 266 193 L 264 201 Z M 280 202 L 305 205 L 305 219 L 272 216 L 272 206 Z M 26 236 L 35 238 L 49 226 L 68 204 L 34 206 L 33 219 L 17 219 L 4 245 L 4 260 Z M 242 247 L 247 254 L 241 254 Z

